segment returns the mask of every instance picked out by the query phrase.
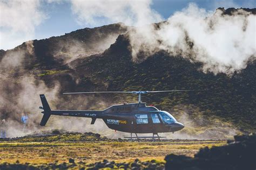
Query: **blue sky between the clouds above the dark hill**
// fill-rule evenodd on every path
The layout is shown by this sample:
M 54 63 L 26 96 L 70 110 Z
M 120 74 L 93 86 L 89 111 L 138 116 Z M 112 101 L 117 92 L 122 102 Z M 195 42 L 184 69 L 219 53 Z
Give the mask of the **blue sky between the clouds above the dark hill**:
M 28 2 L 29 0 L 24 0 L 24 2 Z M 31 0 L 32 1 L 32 0 Z M 37 1 L 37 0 L 35 0 Z M 71 0 L 72 1 L 72 0 Z M 37 15 L 38 11 L 39 13 L 39 19 L 40 22 L 36 23 L 37 20 L 31 20 L 28 21 L 28 19 L 24 19 L 25 22 L 28 22 L 26 25 L 32 25 L 25 31 L 22 30 L 17 24 L 9 24 L 8 20 L 6 21 L 5 18 L 8 17 L 8 12 L 0 12 L 1 20 L 0 22 L 0 49 L 9 49 L 17 46 L 18 44 L 22 44 L 23 41 L 30 40 L 30 39 L 44 39 L 49 38 L 52 36 L 60 36 L 65 33 L 69 33 L 71 31 L 75 31 L 78 29 L 83 29 L 84 27 L 95 27 L 95 26 L 101 26 L 104 24 L 110 24 L 115 23 L 116 19 L 111 19 L 110 17 L 118 17 L 118 16 L 108 16 L 109 20 L 107 20 L 104 23 L 100 22 L 86 22 L 90 18 L 86 18 L 86 15 L 83 18 L 83 11 L 86 11 L 86 9 L 78 9 L 77 11 L 73 9 L 73 6 L 75 3 L 71 1 L 56 1 L 56 0 L 45 0 L 45 1 L 39 1 L 38 3 L 35 3 L 33 5 L 33 8 L 35 8 L 34 11 L 31 11 L 32 14 L 29 15 Z M 76 1 L 76 0 L 74 0 Z M 96 1 L 96 0 L 95 0 Z M 85 1 L 81 1 L 77 3 L 78 5 L 81 5 Z M 136 1 L 134 1 L 136 2 Z M 0 5 L 4 6 L 7 10 L 15 10 L 14 8 L 8 8 L 9 1 L 6 0 L 0 0 Z M 161 19 L 167 19 L 171 15 L 173 15 L 174 12 L 180 11 L 189 3 L 196 3 L 199 8 L 204 8 L 207 11 L 214 11 L 218 7 L 235 7 L 235 8 L 255 8 L 255 1 L 242 1 L 242 0 L 234 0 L 234 1 L 217 1 L 217 0 L 194 0 L 194 1 L 187 1 L 187 0 L 154 0 L 152 1 L 151 5 L 149 6 L 150 10 L 156 11 L 160 16 Z M 1 7 L 1 6 L 0 6 Z M 18 7 L 16 7 L 18 8 Z M 79 7 L 78 7 L 79 8 Z M 37 10 L 37 11 L 36 11 Z M 17 11 L 17 10 L 16 10 Z M 91 13 L 92 14 L 92 13 Z M 20 15 L 23 15 L 21 13 Z M 40 18 L 41 15 L 41 18 Z M 17 16 L 17 15 L 16 15 Z M 19 14 L 18 14 L 19 16 Z M 27 18 L 28 18 L 27 16 Z M 79 18 L 80 17 L 80 18 Z M 83 18 L 81 20 L 81 17 Z M 99 16 L 100 19 L 104 19 L 105 16 Z M 92 15 L 93 19 L 96 17 Z M 15 18 L 16 19 L 16 18 Z M 14 20 L 14 19 L 9 19 Z M 32 23 L 31 23 L 32 22 Z M 120 20 L 119 22 L 124 22 L 123 20 Z M 36 24 L 35 24 L 36 23 Z M 32 28 L 31 28 L 32 27 Z M 6 31 L 7 30 L 7 31 Z M 14 42 L 15 41 L 15 42 Z

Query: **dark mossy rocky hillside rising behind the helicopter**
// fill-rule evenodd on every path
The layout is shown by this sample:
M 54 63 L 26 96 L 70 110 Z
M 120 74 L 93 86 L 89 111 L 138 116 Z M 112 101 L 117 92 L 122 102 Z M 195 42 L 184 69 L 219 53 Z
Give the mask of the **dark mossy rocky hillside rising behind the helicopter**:
M 224 15 L 231 13 L 228 11 L 232 9 L 224 10 Z M 57 97 L 51 105 L 63 109 L 102 109 L 113 103 L 137 101 L 137 96 L 131 95 L 95 95 L 86 98 L 86 102 L 80 97 L 60 96 L 67 91 L 202 90 L 145 95 L 142 100 L 172 112 L 181 122 L 208 127 L 211 133 L 223 131 L 223 126 L 241 132 L 255 131 L 255 60 L 232 76 L 203 73 L 202 63 L 170 56 L 165 51 L 135 63 L 127 35 L 130 29 L 122 23 L 82 29 L 60 37 L 24 42 L 14 49 L 1 51 L 0 99 L 6 104 L 11 103 L 10 107 L 1 105 L 2 117 L 17 119 L 13 115 L 21 110 L 37 109 L 38 105 L 24 109 L 20 104 L 21 94 L 28 86 L 21 82 L 24 77 L 32 77 L 29 80 L 35 89 L 42 82 L 45 84 L 40 93 L 52 93 L 49 89 L 58 84 Z M 38 97 L 35 94 L 28 98 Z M 185 131 L 195 135 L 207 133 L 205 129 Z

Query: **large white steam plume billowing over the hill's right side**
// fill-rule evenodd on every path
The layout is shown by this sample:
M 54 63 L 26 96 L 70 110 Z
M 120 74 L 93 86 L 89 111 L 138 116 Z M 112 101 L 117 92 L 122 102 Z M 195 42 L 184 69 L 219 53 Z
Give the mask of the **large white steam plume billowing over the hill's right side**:
M 138 27 L 130 32 L 133 60 L 165 50 L 203 63 L 204 72 L 232 74 L 255 60 L 256 16 L 242 9 L 223 15 L 190 4 L 167 22 Z

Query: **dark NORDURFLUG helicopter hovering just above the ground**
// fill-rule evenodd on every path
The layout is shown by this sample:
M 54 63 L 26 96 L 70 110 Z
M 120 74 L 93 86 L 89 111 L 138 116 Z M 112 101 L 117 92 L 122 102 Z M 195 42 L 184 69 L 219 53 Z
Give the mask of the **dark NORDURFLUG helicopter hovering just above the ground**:
M 137 133 L 153 133 L 152 139 L 166 138 L 160 137 L 158 133 L 176 132 L 184 128 L 182 123 L 179 123 L 169 112 L 161 111 L 153 106 L 147 106 L 141 100 L 142 94 L 149 93 L 169 93 L 179 91 L 193 91 L 193 90 L 164 90 L 164 91 L 94 91 L 94 92 L 78 92 L 78 93 L 63 93 L 63 94 L 103 94 L 103 93 L 128 93 L 137 94 L 137 103 L 124 103 L 119 105 L 112 105 L 104 110 L 51 110 L 44 94 L 39 95 L 42 101 L 43 118 L 40 123 L 45 126 L 51 115 L 58 116 L 73 116 L 73 117 L 87 117 L 91 118 L 91 124 L 94 124 L 96 119 L 103 119 L 108 128 L 116 131 L 131 133 L 131 140 L 133 138 L 149 138 L 138 137 Z M 136 137 L 132 137 L 132 133 Z M 157 135 L 157 137 L 155 137 Z

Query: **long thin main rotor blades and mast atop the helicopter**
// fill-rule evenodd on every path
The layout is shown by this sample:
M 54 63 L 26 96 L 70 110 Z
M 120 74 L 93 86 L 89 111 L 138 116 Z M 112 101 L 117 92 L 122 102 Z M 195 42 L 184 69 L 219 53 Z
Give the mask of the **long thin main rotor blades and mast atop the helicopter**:
M 169 93 L 169 92 L 179 92 L 179 91 L 194 91 L 194 90 L 163 90 L 163 91 L 91 91 L 91 92 L 75 92 L 75 93 L 63 93 L 64 95 L 69 94 L 96 94 L 96 93 L 130 93 L 138 94 L 138 103 L 142 103 L 142 94 L 147 93 Z

